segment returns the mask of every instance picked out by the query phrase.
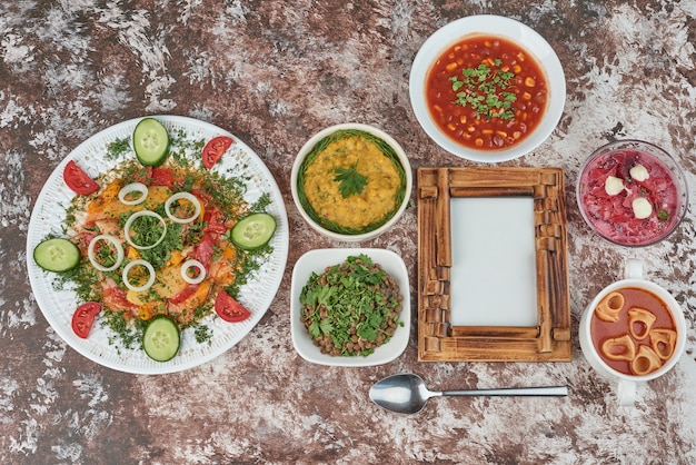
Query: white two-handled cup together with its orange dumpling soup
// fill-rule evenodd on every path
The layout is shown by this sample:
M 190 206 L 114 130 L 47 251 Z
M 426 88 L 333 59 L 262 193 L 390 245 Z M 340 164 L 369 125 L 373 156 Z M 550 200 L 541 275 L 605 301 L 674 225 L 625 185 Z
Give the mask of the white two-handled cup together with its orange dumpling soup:
M 662 309 L 655 299 L 643 299 L 646 293 L 663 304 Z M 649 301 L 656 308 L 644 308 Z M 579 339 L 589 365 L 616 383 L 619 405 L 632 406 L 638 384 L 663 376 L 678 362 L 686 345 L 686 321 L 672 294 L 643 277 L 640 260 L 629 259 L 625 278 L 601 289 L 585 308 Z

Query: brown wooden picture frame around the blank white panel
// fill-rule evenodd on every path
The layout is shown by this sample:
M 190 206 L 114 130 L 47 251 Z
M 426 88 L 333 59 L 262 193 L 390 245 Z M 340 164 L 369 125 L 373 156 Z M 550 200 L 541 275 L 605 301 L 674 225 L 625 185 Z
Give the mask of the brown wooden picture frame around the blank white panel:
M 560 168 L 418 169 L 419 362 L 570 362 L 564 182 Z M 538 324 L 455 326 L 450 201 L 517 196 L 534 205 Z

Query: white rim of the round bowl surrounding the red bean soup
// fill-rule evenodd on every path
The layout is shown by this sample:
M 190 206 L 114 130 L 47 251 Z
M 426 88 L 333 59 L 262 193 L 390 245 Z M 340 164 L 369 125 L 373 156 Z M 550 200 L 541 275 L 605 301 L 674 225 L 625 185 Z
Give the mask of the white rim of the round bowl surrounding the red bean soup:
M 530 52 L 546 71 L 549 98 L 544 117 L 536 129 L 519 144 L 500 150 L 475 150 L 457 144 L 432 121 L 426 102 L 425 85 L 431 66 L 450 46 L 466 36 L 497 36 L 516 42 Z M 566 79 L 558 57 L 548 42 L 521 22 L 498 16 L 471 16 L 458 19 L 437 30 L 418 50 L 409 79 L 411 106 L 426 133 L 441 148 L 458 157 L 481 162 L 507 161 L 529 154 L 554 131 L 566 101 Z

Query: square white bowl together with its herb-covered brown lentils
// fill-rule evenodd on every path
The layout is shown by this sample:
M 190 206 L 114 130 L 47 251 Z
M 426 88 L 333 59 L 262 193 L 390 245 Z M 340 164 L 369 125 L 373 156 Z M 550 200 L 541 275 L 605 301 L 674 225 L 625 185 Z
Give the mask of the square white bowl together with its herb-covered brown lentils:
M 371 366 L 408 345 L 410 290 L 404 260 L 386 249 L 317 249 L 295 265 L 291 335 L 308 362 Z

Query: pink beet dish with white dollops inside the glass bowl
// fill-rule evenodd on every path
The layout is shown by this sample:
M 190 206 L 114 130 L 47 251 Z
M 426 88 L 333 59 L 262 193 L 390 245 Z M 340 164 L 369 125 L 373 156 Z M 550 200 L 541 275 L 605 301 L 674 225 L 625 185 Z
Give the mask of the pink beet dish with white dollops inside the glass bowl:
M 650 244 L 679 220 L 672 172 L 643 151 L 622 149 L 593 160 L 581 175 L 579 194 L 588 221 L 619 244 Z

